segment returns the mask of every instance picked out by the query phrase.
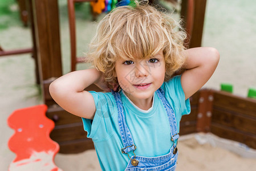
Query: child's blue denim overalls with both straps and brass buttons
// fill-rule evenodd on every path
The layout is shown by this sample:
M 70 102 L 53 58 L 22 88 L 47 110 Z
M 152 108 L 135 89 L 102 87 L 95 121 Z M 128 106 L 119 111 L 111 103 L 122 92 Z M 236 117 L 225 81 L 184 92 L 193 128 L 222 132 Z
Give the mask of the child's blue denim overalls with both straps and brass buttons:
M 125 170 L 175 170 L 177 164 L 178 157 L 178 149 L 177 149 L 177 124 L 176 117 L 174 115 L 173 109 L 170 107 L 168 101 L 165 99 L 164 91 L 161 88 L 157 89 L 157 95 L 164 104 L 166 113 L 168 115 L 169 123 L 170 123 L 170 141 L 173 141 L 173 146 L 170 148 L 170 152 L 165 154 L 164 156 L 159 157 L 142 157 L 136 156 L 135 149 L 136 145 L 133 143 L 131 132 L 127 127 L 125 122 L 124 113 L 123 113 L 123 104 L 121 101 L 121 96 L 119 92 L 112 91 L 113 96 L 116 100 L 116 105 L 118 109 L 118 123 L 120 128 L 120 135 L 123 141 L 124 147 L 121 149 L 121 153 L 128 154 L 131 150 L 133 150 L 134 156 L 129 156 L 130 158 L 127 168 Z

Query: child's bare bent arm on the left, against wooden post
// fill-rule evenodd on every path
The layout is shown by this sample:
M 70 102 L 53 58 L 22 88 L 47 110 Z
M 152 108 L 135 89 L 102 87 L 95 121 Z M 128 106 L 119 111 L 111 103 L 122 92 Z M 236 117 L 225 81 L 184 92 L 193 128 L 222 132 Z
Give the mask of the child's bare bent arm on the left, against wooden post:
M 103 86 L 101 74 L 96 69 L 70 72 L 50 84 L 52 98 L 66 111 L 80 117 L 93 119 L 96 111 L 94 97 L 84 88 L 91 84 L 101 84 L 101 89 L 110 90 Z

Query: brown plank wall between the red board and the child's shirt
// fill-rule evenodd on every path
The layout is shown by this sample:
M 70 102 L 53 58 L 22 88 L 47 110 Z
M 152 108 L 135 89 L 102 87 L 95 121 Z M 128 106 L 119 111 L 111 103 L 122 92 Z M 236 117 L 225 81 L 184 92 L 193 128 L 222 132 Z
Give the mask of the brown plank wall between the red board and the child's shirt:
M 91 139 L 87 138 L 81 117 L 72 115 L 58 105 L 51 105 L 46 116 L 54 121 L 55 128 L 50 137 L 60 145 L 60 153 L 80 153 L 94 149 Z

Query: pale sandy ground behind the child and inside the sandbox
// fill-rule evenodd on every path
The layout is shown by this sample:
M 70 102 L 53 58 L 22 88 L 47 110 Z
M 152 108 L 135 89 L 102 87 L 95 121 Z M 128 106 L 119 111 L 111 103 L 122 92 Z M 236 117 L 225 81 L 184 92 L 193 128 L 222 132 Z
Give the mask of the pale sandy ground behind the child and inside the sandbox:
M 70 44 L 66 1 L 60 3 L 63 73 L 70 71 Z M 249 87 L 256 87 L 256 2 L 254 0 L 208 0 L 202 46 L 216 47 L 221 54 L 220 64 L 205 87 L 219 89 L 220 83 L 234 85 L 234 93 L 247 95 Z M 78 18 L 78 53 L 86 51 L 91 39 L 88 32 L 96 23 Z M 21 36 L 22 35 L 22 36 Z M 84 43 L 86 42 L 86 43 Z M 31 46 L 27 28 L 12 27 L 0 30 L 3 48 Z M 83 64 L 79 69 L 84 68 Z M 30 55 L 9 56 L 0 59 L 0 170 L 7 170 L 15 154 L 7 147 L 14 131 L 6 123 L 15 109 L 42 104 L 39 87 L 35 84 L 34 61 Z M 228 150 L 200 145 L 195 139 L 180 141 L 177 170 L 256 170 L 256 158 L 241 158 Z M 100 170 L 95 150 L 80 154 L 57 154 L 56 165 L 63 170 Z M 254 168 L 253 168 L 254 167 Z

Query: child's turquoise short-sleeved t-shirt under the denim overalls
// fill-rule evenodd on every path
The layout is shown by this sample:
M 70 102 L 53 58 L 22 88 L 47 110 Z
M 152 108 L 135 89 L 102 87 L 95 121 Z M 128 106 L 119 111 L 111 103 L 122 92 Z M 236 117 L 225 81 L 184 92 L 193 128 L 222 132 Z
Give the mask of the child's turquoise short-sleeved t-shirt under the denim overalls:
M 189 100 L 185 100 L 181 87 L 181 76 L 175 76 L 164 82 L 161 88 L 173 108 L 180 128 L 182 115 L 190 113 Z M 94 141 L 97 157 L 102 170 L 124 170 L 129 158 L 121 153 L 124 148 L 117 121 L 117 107 L 111 92 L 102 93 L 90 91 L 95 100 L 96 113 L 94 120 L 84 119 L 84 130 L 87 137 Z M 137 146 L 136 156 L 157 157 L 168 154 L 173 142 L 170 141 L 169 120 L 161 100 L 155 92 L 153 105 L 149 111 L 138 109 L 131 100 L 120 91 L 124 107 L 124 116 L 131 131 L 133 141 Z M 129 152 L 129 156 L 134 154 Z

